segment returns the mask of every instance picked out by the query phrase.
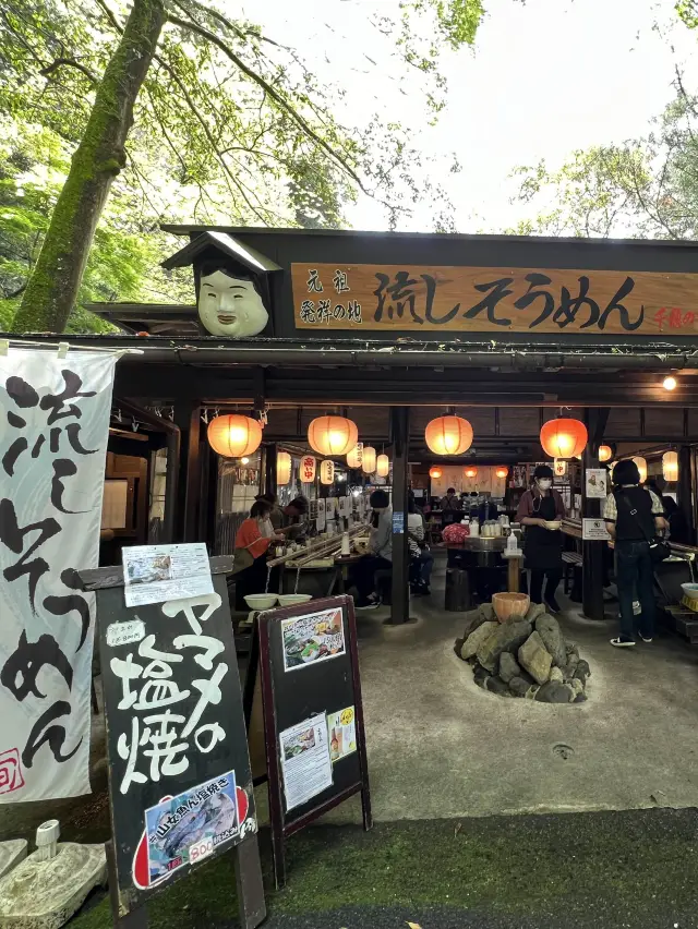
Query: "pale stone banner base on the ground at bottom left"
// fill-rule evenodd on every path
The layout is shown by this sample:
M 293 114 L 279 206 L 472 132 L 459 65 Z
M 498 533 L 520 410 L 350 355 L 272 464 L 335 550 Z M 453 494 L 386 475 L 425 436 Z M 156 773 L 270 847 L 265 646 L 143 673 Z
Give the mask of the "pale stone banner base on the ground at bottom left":
M 34 852 L 0 880 L 0 929 L 59 929 L 106 880 L 104 845 L 61 842 L 48 861 Z

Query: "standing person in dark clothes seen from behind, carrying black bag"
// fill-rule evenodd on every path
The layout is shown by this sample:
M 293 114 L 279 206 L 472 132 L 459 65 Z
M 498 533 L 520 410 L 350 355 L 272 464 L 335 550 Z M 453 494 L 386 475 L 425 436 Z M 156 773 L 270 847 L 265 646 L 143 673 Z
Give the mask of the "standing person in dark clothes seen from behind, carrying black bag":
M 613 484 L 603 507 L 603 518 L 615 542 L 621 635 L 611 639 L 611 644 L 631 648 L 635 646 L 633 600 L 636 590 L 642 607 L 639 636 L 643 642 L 651 642 L 654 636 L 654 566 L 648 540 L 654 539 L 666 522 L 660 498 L 640 486 L 640 472 L 635 461 L 618 461 L 613 469 Z

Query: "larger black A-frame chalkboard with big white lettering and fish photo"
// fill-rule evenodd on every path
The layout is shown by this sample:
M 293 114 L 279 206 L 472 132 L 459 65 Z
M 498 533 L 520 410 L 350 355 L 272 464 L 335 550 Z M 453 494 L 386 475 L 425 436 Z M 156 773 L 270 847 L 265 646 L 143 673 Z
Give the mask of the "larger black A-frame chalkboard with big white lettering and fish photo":
M 213 594 L 133 607 L 120 567 L 80 572 L 97 593 L 115 925 L 147 926 L 154 893 L 226 852 L 243 929 L 266 916 L 231 568 L 231 558 L 210 558 Z

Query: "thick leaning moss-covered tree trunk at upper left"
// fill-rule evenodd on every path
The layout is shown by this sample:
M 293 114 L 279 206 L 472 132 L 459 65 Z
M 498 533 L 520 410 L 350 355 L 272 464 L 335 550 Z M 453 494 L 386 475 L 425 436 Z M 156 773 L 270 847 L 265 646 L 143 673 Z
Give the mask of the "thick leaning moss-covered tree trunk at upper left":
M 65 328 L 111 182 L 125 164 L 133 106 L 165 20 L 164 0 L 133 0 L 14 317 L 17 333 Z

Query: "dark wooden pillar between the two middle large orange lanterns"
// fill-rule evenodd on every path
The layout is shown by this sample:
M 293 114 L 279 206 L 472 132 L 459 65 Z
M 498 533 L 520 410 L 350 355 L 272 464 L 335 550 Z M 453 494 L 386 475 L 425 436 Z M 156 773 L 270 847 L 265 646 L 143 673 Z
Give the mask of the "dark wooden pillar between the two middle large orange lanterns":
M 407 540 L 407 491 L 410 446 L 409 407 L 390 408 L 393 435 L 393 592 L 390 624 L 410 618 L 409 547 Z

